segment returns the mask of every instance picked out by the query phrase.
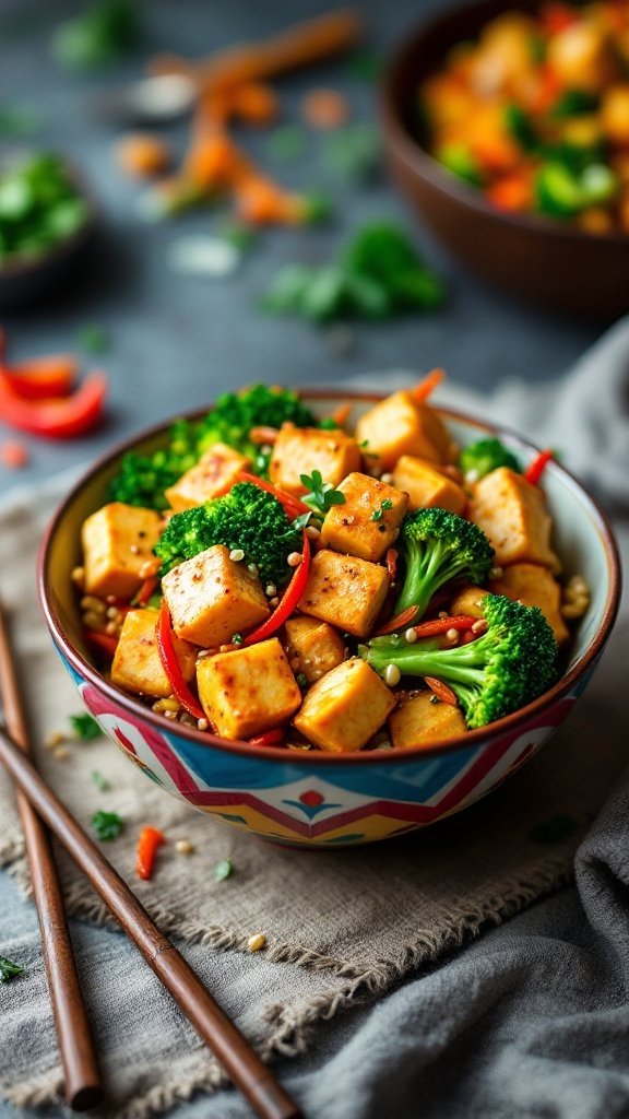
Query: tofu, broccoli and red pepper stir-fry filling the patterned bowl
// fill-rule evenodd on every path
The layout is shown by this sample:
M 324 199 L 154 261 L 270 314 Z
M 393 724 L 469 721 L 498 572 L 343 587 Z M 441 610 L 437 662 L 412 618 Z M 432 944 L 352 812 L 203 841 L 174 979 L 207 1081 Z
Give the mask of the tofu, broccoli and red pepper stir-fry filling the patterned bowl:
M 567 620 L 542 489 L 494 438 L 459 449 L 435 370 L 317 417 L 256 385 L 129 453 L 82 530 L 86 646 L 167 718 L 254 745 L 423 747 L 558 678 Z

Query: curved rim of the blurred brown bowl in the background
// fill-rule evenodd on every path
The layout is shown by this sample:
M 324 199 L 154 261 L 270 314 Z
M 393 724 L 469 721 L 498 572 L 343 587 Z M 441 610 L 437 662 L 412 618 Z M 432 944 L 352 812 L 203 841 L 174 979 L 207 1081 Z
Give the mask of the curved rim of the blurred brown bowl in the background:
M 536 8 L 542 0 L 513 0 L 510 8 L 522 10 Z M 481 13 L 484 9 L 492 9 L 496 0 L 472 0 L 471 3 L 454 3 L 434 11 L 416 23 L 394 49 L 383 74 L 379 87 L 379 114 L 383 123 L 385 142 L 395 145 L 395 152 L 407 168 L 415 175 L 426 179 L 430 185 L 441 194 L 449 196 L 460 206 L 480 214 L 484 217 L 494 219 L 505 227 L 515 227 L 523 233 L 536 233 L 557 237 L 560 241 L 572 241 L 578 244 L 592 245 L 614 245 L 627 250 L 629 234 L 612 233 L 588 233 L 575 225 L 562 223 L 558 218 L 544 218 L 536 214 L 508 213 L 492 206 L 481 190 L 463 182 L 456 175 L 449 173 L 441 163 L 430 154 L 426 148 L 417 140 L 404 123 L 404 106 L 400 102 L 397 84 L 401 74 L 406 69 L 410 60 L 415 56 L 422 40 L 440 25 L 449 22 L 457 15 L 476 12 Z M 426 70 L 428 74 L 428 70 Z M 424 75 L 425 76 L 425 75 Z M 419 75 L 417 81 L 420 81 Z

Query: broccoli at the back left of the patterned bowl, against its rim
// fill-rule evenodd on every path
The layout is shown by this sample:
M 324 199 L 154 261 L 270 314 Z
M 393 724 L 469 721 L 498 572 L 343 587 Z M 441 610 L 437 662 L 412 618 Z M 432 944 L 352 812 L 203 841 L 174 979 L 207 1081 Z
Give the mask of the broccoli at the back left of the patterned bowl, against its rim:
M 152 454 L 125 454 L 120 472 L 112 479 L 113 501 L 166 509 L 163 491 L 194 467 L 213 443 L 227 443 L 251 459 L 255 473 L 263 474 L 270 452 L 250 439 L 252 427 L 314 426 L 317 420 L 288 388 L 253 385 L 240 393 L 224 393 L 203 420 L 178 420 L 170 432 L 168 446 Z

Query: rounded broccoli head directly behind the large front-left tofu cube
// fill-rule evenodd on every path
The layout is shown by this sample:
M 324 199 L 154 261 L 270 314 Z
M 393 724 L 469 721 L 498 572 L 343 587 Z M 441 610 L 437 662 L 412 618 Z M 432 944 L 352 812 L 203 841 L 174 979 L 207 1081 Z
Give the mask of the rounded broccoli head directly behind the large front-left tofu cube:
M 245 562 L 256 565 L 264 582 L 282 586 L 291 574 L 288 557 L 301 551 L 302 535 L 272 493 L 240 482 L 224 497 L 170 518 L 154 548 L 162 561 L 160 573 L 214 544 L 242 548 Z

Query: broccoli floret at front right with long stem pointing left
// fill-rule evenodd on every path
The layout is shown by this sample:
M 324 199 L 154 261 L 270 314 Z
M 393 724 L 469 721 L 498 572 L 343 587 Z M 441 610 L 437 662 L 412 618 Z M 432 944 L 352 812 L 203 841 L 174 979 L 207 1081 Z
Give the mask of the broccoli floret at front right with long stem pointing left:
M 434 676 L 454 692 L 470 728 L 519 711 L 557 679 L 557 643 L 538 606 L 497 594 L 482 600 L 487 632 L 454 648 L 434 640 L 409 645 L 403 637 L 373 638 L 360 656 L 384 674 Z

